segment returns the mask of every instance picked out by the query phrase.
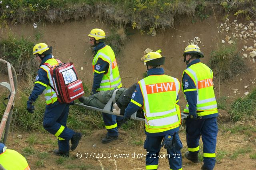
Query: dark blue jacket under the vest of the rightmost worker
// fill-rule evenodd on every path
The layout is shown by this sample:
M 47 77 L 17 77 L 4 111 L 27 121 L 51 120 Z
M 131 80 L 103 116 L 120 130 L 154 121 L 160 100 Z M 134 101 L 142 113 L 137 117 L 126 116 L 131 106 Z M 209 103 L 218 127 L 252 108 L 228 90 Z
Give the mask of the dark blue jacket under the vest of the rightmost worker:
M 200 62 L 200 59 L 195 59 L 187 65 L 187 68 L 199 62 Z M 186 86 L 184 85 L 185 82 L 187 82 Z M 196 85 L 194 81 L 191 79 L 191 77 L 187 73 L 184 73 L 182 77 L 182 87 L 184 90 L 196 89 Z M 186 96 L 186 101 L 188 102 L 189 115 L 196 115 L 197 91 L 186 91 L 184 92 L 184 95 Z M 218 116 L 218 113 L 203 116 L 202 119 L 217 117 L 217 116 Z

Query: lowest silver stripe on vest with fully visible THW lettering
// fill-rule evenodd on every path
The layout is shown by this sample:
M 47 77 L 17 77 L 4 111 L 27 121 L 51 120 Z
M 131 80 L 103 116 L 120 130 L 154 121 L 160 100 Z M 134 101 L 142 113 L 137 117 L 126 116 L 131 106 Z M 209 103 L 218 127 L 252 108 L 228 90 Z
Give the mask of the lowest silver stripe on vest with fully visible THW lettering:
M 164 117 L 164 118 L 160 118 L 160 119 L 153 119 L 153 120 L 149 120 L 148 122 L 145 121 L 146 125 L 150 125 L 150 126 L 165 126 L 165 125 L 171 125 L 173 123 L 178 122 L 178 116 L 174 115 L 174 116 L 170 116 L 170 117 Z

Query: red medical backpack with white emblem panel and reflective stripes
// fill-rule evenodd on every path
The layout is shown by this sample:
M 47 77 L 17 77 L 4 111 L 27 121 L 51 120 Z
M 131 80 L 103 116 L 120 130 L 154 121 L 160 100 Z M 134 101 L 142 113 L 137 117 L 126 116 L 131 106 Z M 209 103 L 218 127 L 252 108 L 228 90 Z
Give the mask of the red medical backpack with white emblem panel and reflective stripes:
M 56 65 L 50 65 L 49 63 L 43 65 L 50 68 L 54 87 L 50 86 L 56 92 L 58 101 L 60 103 L 70 103 L 84 94 L 82 81 L 78 79 L 73 63 L 62 63 L 58 59 L 57 61 L 58 64 Z

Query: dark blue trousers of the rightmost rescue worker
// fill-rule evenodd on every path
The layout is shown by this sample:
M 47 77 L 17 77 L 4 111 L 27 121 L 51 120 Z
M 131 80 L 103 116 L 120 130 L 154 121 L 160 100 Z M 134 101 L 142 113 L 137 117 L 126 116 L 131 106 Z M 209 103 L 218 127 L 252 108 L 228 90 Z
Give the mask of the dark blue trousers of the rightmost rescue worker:
M 186 119 L 186 140 L 190 152 L 199 152 L 199 139 L 202 135 L 204 144 L 204 167 L 212 170 L 215 166 L 215 149 L 217 142 L 217 118 L 200 120 Z M 193 151 L 191 151 L 193 150 Z

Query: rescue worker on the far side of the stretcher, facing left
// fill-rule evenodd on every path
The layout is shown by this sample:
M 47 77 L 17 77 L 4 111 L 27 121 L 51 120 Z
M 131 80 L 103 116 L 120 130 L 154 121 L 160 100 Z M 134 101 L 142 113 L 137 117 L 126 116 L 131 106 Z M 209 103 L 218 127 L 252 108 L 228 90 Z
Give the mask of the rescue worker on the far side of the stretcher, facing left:
M 98 91 L 112 90 L 115 87 L 121 88 L 121 78 L 116 63 L 116 57 L 112 48 L 103 41 L 106 34 L 103 30 L 92 29 L 89 36 L 89 43 L 95 53 L 92 61 L 94 73 L 91 95 Z M 107 129 L 107 134 L 102 138 L 102 143 L 109 143 L 118 139 L 117 121 L 122 121 L 122 117 L 102 113 L 103 121 Z

